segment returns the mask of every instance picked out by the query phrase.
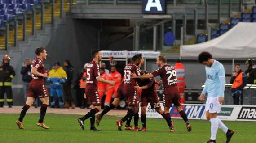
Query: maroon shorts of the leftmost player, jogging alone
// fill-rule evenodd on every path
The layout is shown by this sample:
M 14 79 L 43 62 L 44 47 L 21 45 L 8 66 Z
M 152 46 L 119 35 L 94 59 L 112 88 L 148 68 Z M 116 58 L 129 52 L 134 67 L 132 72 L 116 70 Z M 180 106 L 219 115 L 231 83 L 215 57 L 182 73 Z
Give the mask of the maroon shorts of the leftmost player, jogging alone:
M 47 88 L 44 86 L 43 81 L 32 80 L 28 85 L 27 97 L 45 98 L 49 97 Z

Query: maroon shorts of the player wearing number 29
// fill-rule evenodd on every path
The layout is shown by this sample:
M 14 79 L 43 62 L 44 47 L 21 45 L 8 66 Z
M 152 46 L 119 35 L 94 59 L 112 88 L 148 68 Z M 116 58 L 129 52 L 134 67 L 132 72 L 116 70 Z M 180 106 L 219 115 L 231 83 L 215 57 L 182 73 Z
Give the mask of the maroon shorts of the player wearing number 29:
M 181 97 L 179 92 L 163 94 L 163 106 L 172 107 L 172 103 L 176 107 L 181 106 Z

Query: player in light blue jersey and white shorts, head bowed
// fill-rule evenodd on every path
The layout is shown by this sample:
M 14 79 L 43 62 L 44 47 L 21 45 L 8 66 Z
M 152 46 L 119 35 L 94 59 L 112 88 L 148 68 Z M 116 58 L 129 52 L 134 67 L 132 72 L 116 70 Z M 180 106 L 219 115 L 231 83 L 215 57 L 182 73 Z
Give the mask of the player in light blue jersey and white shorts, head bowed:
M 211 122 L 211 138 L 207 143 L 216 143 L 218 127 L 225 132 L 226 143 L 229 143 L 234 130 L 228 129 L 217 117 L 217 114 L 221 111 L 221 104 L 224 101 L 225 69 L 220 62 L 212 59 L 212 55 L 208 52 L 199 54 L 198 61 L 205 65 L 206 71 L 205 87 L 199 99 L 203 101 L 205 94 L 208 93 L 205 111 L 207 120 Z

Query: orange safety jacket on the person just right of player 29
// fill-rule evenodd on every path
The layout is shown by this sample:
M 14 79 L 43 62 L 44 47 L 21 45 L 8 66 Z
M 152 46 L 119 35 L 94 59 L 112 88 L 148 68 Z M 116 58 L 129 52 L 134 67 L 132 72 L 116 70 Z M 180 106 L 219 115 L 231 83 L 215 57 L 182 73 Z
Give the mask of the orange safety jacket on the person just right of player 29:
M 176 63 L 175 66 L 177 85 L 180 89 L 185 88 L 185 67 L 182 63 Z

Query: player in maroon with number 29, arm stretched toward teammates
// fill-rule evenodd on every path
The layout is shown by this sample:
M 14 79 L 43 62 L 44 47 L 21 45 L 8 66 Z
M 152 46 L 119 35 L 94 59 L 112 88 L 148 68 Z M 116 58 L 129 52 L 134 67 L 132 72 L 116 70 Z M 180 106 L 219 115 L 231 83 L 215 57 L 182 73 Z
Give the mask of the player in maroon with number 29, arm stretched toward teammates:
M 164 94 L 163 94 L 163 106 L 164 106 L 164 118 L 166 119 L 170 131 L 173 132 L 174 128 L 171 124 L 171 116 L 170 116 L 170 107 L 172 107 L 172 103 L 177 107 L 177 110 L 181 114 L 181 117 L 186 123 L 186 127 L 188 131 L 191 131 L 190 122 L 188 121 L 187 115 L 181 106 L 181 98 L 179 96 L 179 89 L 177 87 L 177 79 L 176 79 L 176 71 L 173 66 L 167 64 L 167 60 L 164 55 L 160 55 L 156 59 L 157 65 L 160 67 L 156 71 L 151 74 L 146 74 L 142 76 L 138 76 L 135 73 L 132 73 L 131 78 L 141 78 L 141 79 L 149 79 L 154 76 L 160 76 L 163 81 L 164 86 Z

